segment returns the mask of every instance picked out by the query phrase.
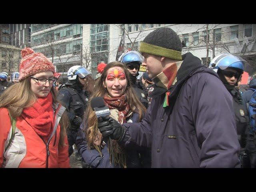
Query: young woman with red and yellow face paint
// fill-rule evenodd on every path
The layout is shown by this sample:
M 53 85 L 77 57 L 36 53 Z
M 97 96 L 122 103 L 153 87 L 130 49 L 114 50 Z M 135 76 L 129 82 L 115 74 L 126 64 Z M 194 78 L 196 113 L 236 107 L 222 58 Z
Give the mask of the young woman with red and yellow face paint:
M 140 122 L 146 108 L 131 87 L 129 72 L 120 62 L 111 62 L 96 82 L 92 98 L 102 97 L 110 108 L 110 117 L 120 124 Z M 90 99 L 90 100 L 91 100 Z M 76 145 L 88 168 L 140 168 L 150 167 L 149 150 L 138 147 L 125 149 L 118 141 L 103 138 L 90 100 L 84 115 L 84 124 L 78 131 Z M 139 149 L 141 150 L 141 149 Z M 139 156 L 141 158 L 139 158 Z

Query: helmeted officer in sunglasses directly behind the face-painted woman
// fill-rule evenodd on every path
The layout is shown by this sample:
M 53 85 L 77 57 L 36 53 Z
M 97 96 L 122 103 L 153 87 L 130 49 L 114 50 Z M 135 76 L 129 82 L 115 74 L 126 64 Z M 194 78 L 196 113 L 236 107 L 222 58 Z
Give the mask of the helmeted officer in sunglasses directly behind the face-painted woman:
M 137 51 L 129 51 L 123 54 L 118 60 L 126 65 L 126 68 L 130 72 L 129 78 L 132 88 L 134 88 L 140 102 L 148 108 L 147 94 L 144 88 L 136 81 L 139 75 L 140 64 L 144 60 L 143 56 Z

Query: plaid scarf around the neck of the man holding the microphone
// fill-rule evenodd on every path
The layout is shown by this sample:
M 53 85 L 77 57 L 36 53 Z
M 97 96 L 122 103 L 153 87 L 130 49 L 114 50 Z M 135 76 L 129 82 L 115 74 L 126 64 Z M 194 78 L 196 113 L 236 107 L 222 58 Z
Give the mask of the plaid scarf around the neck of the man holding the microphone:
M 183 61 L 176 62 L 172 66 L 163 70 L 160 74 L 152 78 L 152 81 L 154 81 L 158 87 L 162 87 L 168 90 L 172 85 L 177 82 L 176 75 L 182 62 Z

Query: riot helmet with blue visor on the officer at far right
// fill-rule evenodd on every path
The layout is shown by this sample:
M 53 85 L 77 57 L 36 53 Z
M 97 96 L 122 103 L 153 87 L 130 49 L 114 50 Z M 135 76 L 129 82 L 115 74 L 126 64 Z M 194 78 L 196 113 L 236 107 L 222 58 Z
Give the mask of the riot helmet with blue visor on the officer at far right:
M 225 53 L 213 58 L 209 65 L 209 68 L 213 67 L 213 70 L 215 72 L 218 72 L 218 69 L 225 70 L 228 67 L 232 67 L 236 70 L 244 72 L 244 68 L 247 65 L 248 63 L 246 62 L 246 60 L 244 60 L 240 56 L 236 56 L 230 53 Z

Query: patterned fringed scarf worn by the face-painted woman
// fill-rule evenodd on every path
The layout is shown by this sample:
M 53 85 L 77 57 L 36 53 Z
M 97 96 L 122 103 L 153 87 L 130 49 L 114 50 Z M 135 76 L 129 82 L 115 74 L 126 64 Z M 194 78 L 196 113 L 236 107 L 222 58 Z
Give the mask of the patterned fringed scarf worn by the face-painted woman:
M 126 100 L 126 96 L 122 95 L 118 98 L 111 98 L 110 96 L 104 96 L 104 101 L 110 108 L 110 116 L 117 120 L 120 124 L 126 122 L 126 117 L 130 114 L 130 106 Z M 97 127 L 97 126 L 95 126 Z M 97 129 L 98 130 L 98 129 Z M 94 146 L 98 152 L 101 154 L 100 144 L 102 141 L 102 134 L 98 130 L 94 139 Z M 112 148 L 110 147 L 112 146 Z M 109 143 L 109 153 L 110 153 L 110 164 L 112 162 L 112 154 L 114 156 L 114 163 L 126 168 L 126 156 L 125 150 L 122 146 L 118 144 L 116 140 L 111 140 Z

